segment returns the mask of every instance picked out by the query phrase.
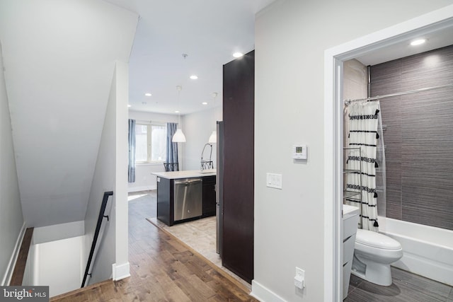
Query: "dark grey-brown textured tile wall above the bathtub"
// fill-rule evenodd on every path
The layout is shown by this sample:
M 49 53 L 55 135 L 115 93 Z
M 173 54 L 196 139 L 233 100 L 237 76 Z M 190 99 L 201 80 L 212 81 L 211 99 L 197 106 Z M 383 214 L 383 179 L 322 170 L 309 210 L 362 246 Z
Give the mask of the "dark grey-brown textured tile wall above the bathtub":
M 453 83 L 453 46 L 371 67 L 371 95 Z M 386 216 L 453 230 L 453 87 L 383 98 Z

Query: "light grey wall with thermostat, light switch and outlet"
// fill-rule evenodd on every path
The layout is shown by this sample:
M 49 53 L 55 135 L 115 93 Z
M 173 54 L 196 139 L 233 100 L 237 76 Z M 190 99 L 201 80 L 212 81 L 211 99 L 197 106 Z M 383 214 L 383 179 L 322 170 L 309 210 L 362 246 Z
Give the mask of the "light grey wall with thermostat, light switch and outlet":
M 448 4 L 290 0 L 258 13 L 252 292 L 263 301 L 324 300 L 324 50 Z M 297 142 L 306 163 L 292 161 Z M 265 186 L 266 172 L 282 174 L 282 190 Z M 302 291 L 295 267 L 305 270 Z

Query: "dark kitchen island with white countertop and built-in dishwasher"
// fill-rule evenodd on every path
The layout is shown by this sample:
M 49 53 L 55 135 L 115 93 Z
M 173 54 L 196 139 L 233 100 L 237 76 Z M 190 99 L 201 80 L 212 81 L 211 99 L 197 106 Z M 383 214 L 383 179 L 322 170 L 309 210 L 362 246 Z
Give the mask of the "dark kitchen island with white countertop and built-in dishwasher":
M 153 174 L 157 176 L 157 219 L 167 226 L 215 215 L 215 169 Z

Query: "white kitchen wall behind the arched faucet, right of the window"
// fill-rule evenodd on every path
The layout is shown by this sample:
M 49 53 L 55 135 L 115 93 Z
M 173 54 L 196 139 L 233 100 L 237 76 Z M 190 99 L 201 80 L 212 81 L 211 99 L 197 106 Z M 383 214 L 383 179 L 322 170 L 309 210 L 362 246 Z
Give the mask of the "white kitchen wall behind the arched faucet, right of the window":
M 201 152 L 217 121 L 222 120 L 222 106 L 184 115 L 183 132 L 187 142 L 184 143 L 183 170 L 200 170 Z M 207 146 L 203 159 L 209 159 L 210 147 Z M 216 144 L 212 144 L 212 161 L 216 165 Z

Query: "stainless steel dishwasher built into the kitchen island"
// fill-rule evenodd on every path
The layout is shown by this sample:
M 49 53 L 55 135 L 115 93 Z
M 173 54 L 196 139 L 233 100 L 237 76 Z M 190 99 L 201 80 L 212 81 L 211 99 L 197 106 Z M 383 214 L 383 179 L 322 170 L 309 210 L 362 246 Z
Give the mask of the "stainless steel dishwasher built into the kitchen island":
M 185 178 L 175 180 L 174 220 L 202 215 L 202 179 Z

